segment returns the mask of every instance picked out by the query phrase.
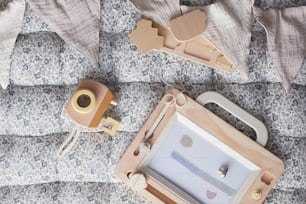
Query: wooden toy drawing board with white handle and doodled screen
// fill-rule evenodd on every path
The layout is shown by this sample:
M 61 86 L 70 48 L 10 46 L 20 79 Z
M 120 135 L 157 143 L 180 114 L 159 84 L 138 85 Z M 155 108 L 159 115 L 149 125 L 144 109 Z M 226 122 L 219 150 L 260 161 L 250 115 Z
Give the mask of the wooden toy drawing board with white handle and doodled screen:
M 153 203 L 262 203 L 284 170 L 262 147 L 265 126 L 215 92 L 198 101 L 168 90 L 118 162 L 116 176 Z M 200 104 L 208 102 L 242 113 L 257 142 Z

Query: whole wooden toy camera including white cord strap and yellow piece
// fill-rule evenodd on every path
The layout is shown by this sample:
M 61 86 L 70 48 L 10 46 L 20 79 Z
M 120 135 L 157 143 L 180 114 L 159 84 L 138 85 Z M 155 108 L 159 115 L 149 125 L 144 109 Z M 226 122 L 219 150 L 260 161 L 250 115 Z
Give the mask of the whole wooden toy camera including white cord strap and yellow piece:
M 111 117 L 104 117 L 110 105 L 117 105 L 112 92 L 94 80 L 82 80 L 66 106 L 67 116 L 75 123 L 69 137 L 58 150 L 58 156 L 66 154 L 80 135 L 80 127 L 97 128 L 102 124 L 102 131 L 115 135 L 120 123 Z

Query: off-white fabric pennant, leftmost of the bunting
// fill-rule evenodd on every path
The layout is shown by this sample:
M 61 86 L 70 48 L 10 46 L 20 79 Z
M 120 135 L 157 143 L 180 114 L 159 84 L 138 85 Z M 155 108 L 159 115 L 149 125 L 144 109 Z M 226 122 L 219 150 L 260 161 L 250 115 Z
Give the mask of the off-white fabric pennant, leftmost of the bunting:
M 0 11 L 0 85 L 3 89 L 9 85 L 11 55 L 21 31 L 24 11 L 24 0 L 14 0 Z

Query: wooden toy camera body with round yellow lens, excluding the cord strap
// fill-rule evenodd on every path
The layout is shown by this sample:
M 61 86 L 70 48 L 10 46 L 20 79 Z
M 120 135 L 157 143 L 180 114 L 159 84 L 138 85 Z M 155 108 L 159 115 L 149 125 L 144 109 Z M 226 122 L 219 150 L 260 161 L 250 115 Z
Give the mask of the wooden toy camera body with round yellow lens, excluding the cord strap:
M 66 106 L 66 113 L 82 127 L 97 128 L 111 104 L 116 105 L 117 102 L 105 85 L 94 80 L 82 80 Z M 119 126 L 119 122 L 111 118 L 107 121 L 111 121 L 114 127 Z

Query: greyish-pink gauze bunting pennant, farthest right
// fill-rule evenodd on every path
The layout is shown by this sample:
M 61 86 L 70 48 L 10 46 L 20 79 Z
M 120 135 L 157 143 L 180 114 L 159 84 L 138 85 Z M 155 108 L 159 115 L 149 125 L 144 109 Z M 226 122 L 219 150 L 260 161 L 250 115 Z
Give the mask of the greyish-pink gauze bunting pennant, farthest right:
M 289 90 L 306 55 L 306 6 L 262 10 L 254 15 L 267 33 L 273 66 Z

